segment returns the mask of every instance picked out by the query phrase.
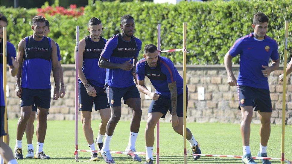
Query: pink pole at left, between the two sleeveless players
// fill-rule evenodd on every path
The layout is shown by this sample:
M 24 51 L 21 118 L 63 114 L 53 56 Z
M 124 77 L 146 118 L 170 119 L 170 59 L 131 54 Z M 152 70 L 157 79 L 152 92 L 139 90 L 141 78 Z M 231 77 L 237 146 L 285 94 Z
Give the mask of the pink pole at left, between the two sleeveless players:
M 78 150 L 78 42 L 79 26 L 76 26 L 76 55 L 75 55 L 75 150 Z M 75 154 L 75 160 L 78 161 L 78 152 Z

